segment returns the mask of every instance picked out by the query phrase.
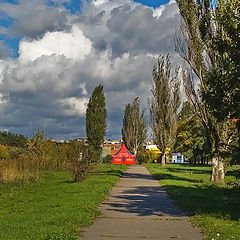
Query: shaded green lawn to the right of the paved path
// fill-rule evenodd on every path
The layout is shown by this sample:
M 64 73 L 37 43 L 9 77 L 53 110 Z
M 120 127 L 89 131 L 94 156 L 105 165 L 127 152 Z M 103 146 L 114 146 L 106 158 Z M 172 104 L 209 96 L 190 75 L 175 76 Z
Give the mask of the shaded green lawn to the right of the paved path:
M 208 240 L 240 239 L 240 189 L 226 183 L 234 181 L 234 171 L 227 172 L 225 184 L 210 182 L 211 167 L 147 164 L 176 204 L 189 213 Z

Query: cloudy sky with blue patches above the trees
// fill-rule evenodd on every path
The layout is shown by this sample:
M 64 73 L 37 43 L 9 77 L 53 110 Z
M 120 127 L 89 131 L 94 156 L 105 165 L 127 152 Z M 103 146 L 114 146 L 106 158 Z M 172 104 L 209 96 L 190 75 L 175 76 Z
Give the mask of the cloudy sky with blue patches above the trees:
M 0 130 L 85 136 L 102 84 L 106 138 L 120 139 L 125 105 L 147 107 L 159 54 L 179 61 L 178 24 L 174 0 L 0 0 Z

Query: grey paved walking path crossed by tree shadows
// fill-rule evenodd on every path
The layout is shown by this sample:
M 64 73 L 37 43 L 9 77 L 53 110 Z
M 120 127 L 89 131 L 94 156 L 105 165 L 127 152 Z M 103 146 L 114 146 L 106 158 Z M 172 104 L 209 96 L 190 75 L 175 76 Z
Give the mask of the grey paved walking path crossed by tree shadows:
M 82 240 L 202 240 L 199 229 L 143 166 L 130 166 Z

